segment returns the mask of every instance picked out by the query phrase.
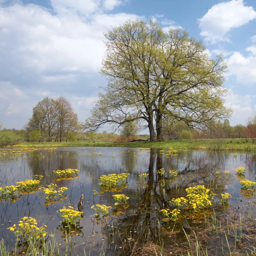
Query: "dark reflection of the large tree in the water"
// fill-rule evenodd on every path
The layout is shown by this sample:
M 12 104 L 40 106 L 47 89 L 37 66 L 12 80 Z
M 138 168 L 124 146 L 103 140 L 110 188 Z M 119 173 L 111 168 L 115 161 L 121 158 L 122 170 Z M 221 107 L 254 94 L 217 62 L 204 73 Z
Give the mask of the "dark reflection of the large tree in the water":
M 169 157 L 166 161 L 165 155 L 160 154 L 159 150 L 151 149 L 148 162 L 148 178 L 143 187 L 143 192 L 137 198 L 134 198 L 133 191 L 125 191 L 125 195 L 129 196 L 132 200 L 130 207 L 125 210 L 124 214 L 118 214 L 116 220 L 113 219 L 112 223 L 110 221 L 102 227 L 103 235 L 109 238 L 107 241 L 109 245 L 106 246 L 106 248 L 109 248 L 109 252 L 114 252 L 114 248 L 121 247 L 125 248 L 125 252 L 131 253 L 139 250 L 139 248 L 141 249 L 142 245 L 151 244 L 152 242 L 159 245 L 160 242 L 164 241 L 165 245 L 168 245 L 170 244 L 170 232 L 175 233 L 177 239 L 180 239 L 180 241 L 185 241 L 185 235 L 180 230 L 182 230 L 182 226 L 185 223 L 189 223 L 191 226 L 195 225 L 192 218 L 184 222 L 176 222 L 174 225 L 173 222 L 162 222 L 163 217 L 159 210 L 172 207 L 169 202 L 170 199 L 185 196 L 185 188 L 194 182 L 198 184 L 202 180 L 202 183 L 206 187 L 214 189 L 214 192 L 217 193 L 222 192 L 225 184 L 228 182 L 228 177 L 217 180 L 218 178 L 214 176 L 214 173 L 209 171 L 210 167 L 207 161 L 203 165 L 204 158 L 197 158 L 198 163 L 193 158 L 193 154 L 187 154 L 186 157 L 186 161 L 191 159 L 190 166 L 194 166 L 195 168 L 197 165 L 197 168 L 189 170 L 188 163 L 186 166 L 184 165 L 184 169 L 182 170 L 180 168 L 182 163 L 180 164 L 174 157 Z M 205 158 L 207 158 L 207 155 L 205 155 Z M 166 162 L 170 163 L 170 160 L 176 165 L 176 168 L 172 165 L 171 167 L 167 165 Z M 221 165 L 220 162 L 216 161 L 214 168 L 219 164 Z M 161 177 L 157 173 L 157 170 L 161 168 L 165 168 L 166 170 L 165 177 Z M 177 180 L 170 181 L 168 178 L 169 169 L 178 169 L 179 175 Z M 105 198 L 109 197 L 107 196 Z M 211 212 L 206 212 L 206 214 L 211 214 Z M 204 215 L 202 215 L 203 217 L 201 215 L 199 212 L 194 213 L 193 220 L 203 219 Z

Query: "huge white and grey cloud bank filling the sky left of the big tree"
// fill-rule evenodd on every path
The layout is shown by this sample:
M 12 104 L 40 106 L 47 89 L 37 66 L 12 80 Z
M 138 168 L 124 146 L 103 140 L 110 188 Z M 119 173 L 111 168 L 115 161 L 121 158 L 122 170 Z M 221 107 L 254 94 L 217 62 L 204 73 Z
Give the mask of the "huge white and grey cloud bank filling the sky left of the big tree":
M 0 81 L 8 82 L 0 84 L 0 121 L 7 128 L 21 128 L 46 95 L 71 100 L 76 94 L 83 97 L 72 103 L 84 120 L 89 110 L 83 109 L 93 106 L 90 99 L 106 84 L 98 75 L 105 51 L 103 32 L 144 17 L 111 13 L 121 0 L 50 0 L 50 9 L 3 2 Z

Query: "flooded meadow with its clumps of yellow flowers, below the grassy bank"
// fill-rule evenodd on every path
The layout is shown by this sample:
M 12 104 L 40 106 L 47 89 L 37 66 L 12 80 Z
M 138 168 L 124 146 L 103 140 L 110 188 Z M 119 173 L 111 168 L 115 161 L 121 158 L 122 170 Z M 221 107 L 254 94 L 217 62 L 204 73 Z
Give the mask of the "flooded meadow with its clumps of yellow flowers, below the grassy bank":
M 49 255 L 255 255 L 255 174 L 243 152 L 2 150 L 1 246 L 24 255 L 32 236 L 56 244 Z

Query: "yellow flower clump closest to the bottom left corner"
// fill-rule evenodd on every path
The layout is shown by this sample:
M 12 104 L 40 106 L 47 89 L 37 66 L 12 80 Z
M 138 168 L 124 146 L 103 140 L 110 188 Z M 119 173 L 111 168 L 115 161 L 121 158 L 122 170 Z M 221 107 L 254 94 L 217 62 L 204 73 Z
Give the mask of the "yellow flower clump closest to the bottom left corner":
M 8 227 L 20 240 L 23 238 L 25 241 L 34 241 L 34 238 L 39 242 L 47 236 L 47 231 L 45 230 L 47 226 L 42 225 L 41 227 L 37 226 L 37 221 L 31 217 L 23 217 L 22 221 L 19 221 L 18 225 L 13 225 Z

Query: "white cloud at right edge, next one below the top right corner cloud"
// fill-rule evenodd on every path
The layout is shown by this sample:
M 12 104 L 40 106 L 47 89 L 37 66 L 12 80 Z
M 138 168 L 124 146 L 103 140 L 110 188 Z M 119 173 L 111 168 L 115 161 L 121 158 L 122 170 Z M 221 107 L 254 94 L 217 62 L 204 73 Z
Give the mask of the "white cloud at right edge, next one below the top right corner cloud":
M 252 49 L 250 48 L 250 50 Z M 247 86 L 256 83 L 255 55 L 249 54 L 248 57 L 245 57 L 240 52 L 234 52 L 229 59 L 227 59 L 227 66 L 229 69 L 227 76 L 235 75 L 237 83 L 245 84 Z

